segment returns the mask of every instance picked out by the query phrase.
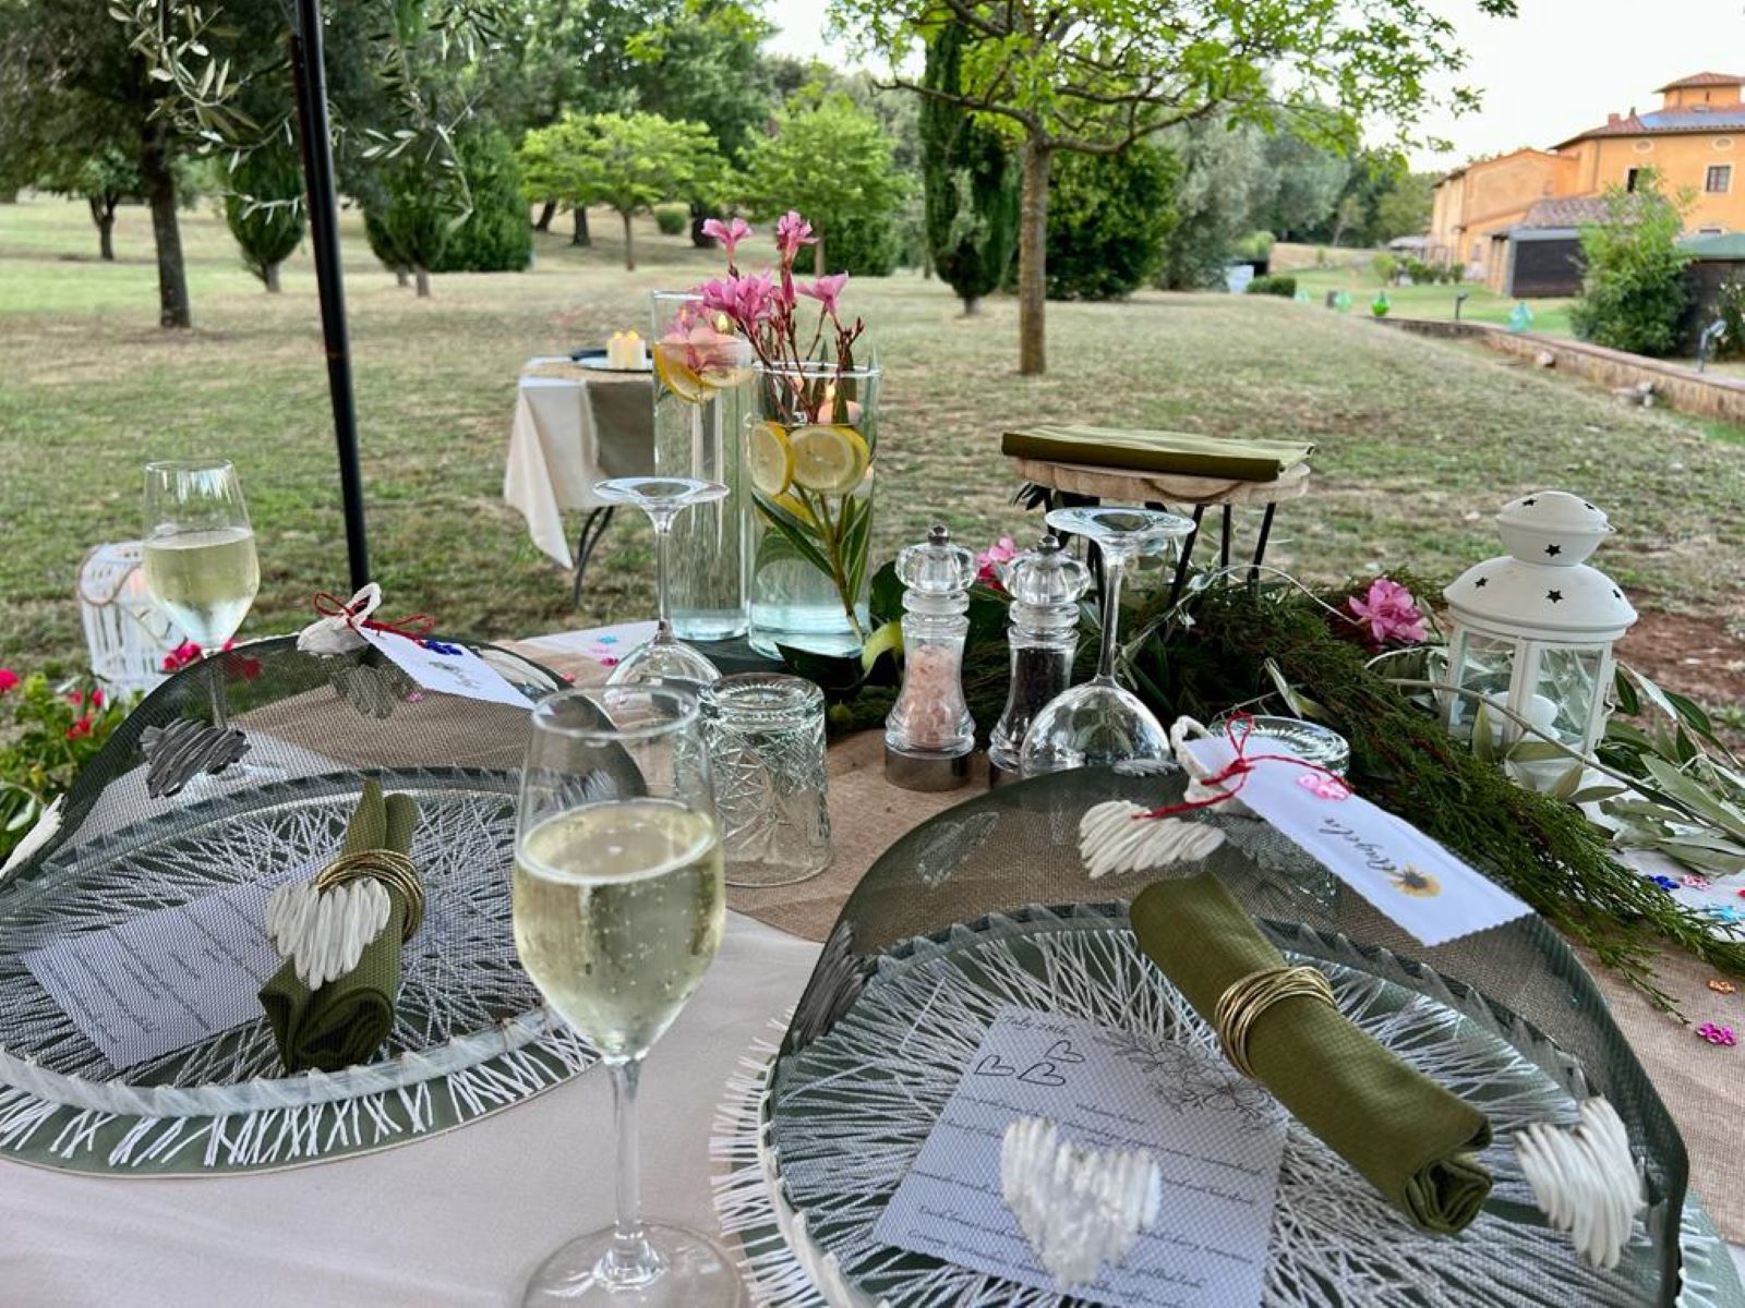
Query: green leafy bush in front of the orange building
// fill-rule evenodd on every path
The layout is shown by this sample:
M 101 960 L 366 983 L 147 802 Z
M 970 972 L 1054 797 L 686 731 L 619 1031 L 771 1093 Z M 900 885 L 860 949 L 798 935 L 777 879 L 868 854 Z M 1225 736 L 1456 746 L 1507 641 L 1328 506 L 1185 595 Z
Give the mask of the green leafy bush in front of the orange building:
M 1670 354 L 1689 302 L 1679 244 L 1689 197 L 1670 197 L 1653 169 L 1637 188 L 1605 192 L 1605 221 L 1581 228 L 1586 274 L 1569 309 L 1576 335 L 1632 354 Z

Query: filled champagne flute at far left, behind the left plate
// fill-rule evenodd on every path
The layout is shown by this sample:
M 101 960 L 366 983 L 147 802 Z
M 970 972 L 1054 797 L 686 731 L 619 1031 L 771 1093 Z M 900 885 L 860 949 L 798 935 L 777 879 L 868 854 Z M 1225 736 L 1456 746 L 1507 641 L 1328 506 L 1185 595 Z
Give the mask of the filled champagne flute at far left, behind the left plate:
M 208 661 L 213 726 L 230 726 L 223 677 L 211 663 L 260 591 L 255 528 L 227 459 L 145 466 L 145 588 Z M 232 773 L 269 769 L 232 766 Z

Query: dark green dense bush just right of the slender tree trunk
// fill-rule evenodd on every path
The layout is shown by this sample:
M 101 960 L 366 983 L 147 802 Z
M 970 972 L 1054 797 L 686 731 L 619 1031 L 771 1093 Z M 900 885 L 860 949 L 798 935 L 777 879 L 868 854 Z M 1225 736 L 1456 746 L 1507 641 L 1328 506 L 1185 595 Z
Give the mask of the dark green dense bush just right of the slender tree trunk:
M 1176 225 L 1176 157 L 1155 145 L 1066 153 L 1049 187 L 1049 298 L 1119 300 L 1145 286 Z

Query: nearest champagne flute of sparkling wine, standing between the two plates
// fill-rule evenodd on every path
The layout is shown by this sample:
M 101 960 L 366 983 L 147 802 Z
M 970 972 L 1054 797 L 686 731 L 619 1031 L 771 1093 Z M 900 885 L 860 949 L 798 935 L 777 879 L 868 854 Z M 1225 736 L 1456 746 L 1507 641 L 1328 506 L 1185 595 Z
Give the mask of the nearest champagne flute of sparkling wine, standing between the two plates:
M 721 947 L 721 834 L 688 689 L 602 685 L 532 713 L 515 841 L 515 949 L 546 1003 L 599 1052 L 618 1104 L 618 1223 L 569 1242 L 524 1303 L 742 1301 L 707 1236 L 639 1210 L 637 1074 Z

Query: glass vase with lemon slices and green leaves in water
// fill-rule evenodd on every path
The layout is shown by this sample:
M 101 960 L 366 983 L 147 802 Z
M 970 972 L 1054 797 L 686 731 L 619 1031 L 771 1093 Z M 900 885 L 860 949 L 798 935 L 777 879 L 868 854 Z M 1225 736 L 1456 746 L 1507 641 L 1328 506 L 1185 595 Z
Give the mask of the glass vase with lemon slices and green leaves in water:
M 756 368 L 745 424 L 750 644 L 859 654 L 867 637 L 876 366 Z

